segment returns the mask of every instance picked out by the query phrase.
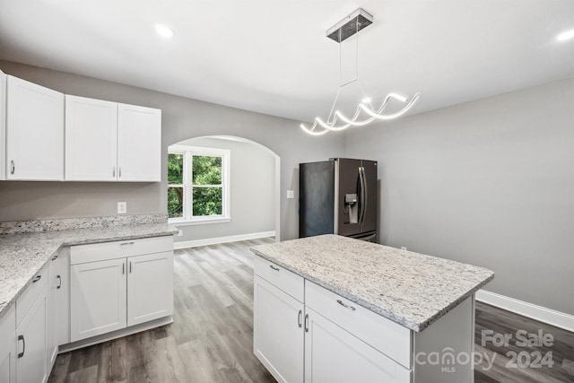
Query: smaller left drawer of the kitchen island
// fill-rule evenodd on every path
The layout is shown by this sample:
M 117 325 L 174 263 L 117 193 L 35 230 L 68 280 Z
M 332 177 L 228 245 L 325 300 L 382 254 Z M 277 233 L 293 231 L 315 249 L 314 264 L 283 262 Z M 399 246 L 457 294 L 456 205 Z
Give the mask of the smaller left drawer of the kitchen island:
M 254 270 L 255 274 L 265 279 L 268 283 L 274 284 L 296 300 L 304 301 L 303 289 L 305 282 L 302 276 L 257 256 L 254 257 Z

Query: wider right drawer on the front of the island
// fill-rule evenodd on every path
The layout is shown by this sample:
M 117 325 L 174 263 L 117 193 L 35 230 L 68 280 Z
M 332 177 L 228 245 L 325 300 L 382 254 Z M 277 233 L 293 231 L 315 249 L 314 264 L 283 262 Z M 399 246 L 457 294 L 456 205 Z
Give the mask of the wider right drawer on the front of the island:
M 309 281 L 305 281 L 305 304 L 410 370 L 411 330 L 408 328 Z

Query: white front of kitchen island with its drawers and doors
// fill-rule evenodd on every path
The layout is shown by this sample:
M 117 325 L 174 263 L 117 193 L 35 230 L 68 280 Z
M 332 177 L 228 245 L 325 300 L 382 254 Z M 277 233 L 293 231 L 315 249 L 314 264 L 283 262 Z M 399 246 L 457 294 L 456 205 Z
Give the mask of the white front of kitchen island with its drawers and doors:
M 391 341 L 398 330 L 404 344 L 391 352 L 398 359 L 396 350 L 410 349 L 409 330 L 389 328 L 385 318 L 380 318 L 383 326 L 373 325 L 361 309 L 338 303 L 331 292 L 261 257 L 254 269 L 254 352 L 279 382 L 411 381 L 411 370 L 365 343 L 351 327 L 377 331 Z

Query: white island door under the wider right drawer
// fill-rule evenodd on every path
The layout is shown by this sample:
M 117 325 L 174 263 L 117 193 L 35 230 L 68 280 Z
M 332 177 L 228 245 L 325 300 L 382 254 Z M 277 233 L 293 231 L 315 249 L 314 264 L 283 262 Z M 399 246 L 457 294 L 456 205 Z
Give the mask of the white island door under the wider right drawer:
M 305 382 L 404 382 L 411 373 L 369 344 L 306 308 Z

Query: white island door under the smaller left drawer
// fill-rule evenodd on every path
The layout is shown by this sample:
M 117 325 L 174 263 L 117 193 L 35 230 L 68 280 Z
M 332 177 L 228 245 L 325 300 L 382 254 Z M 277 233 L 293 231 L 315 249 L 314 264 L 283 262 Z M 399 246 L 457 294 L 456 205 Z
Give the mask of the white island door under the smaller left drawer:
M 253 352 L 278 382 L 303 381 L 303 304 L 255 275 Z

